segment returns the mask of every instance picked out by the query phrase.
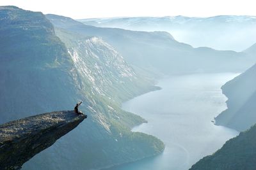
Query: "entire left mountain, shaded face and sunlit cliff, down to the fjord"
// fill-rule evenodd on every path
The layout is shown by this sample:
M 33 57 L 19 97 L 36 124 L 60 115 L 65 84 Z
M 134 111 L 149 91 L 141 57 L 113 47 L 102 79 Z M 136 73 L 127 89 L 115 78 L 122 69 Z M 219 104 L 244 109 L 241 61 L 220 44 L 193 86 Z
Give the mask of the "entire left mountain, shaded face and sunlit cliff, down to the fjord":
M 131 132 L 146 121 L 120 108 L 123 99 L 156 87 L 113 47 L 56 31 L 67 39 L 63 42 L 40 12 L 1 6 L 0 18 L 0 122 L 70 110 L 77 101 L 83 101 L 81 110 L 88 115 L 24 169 L 99 169 L 163 151 L 154 136 Z

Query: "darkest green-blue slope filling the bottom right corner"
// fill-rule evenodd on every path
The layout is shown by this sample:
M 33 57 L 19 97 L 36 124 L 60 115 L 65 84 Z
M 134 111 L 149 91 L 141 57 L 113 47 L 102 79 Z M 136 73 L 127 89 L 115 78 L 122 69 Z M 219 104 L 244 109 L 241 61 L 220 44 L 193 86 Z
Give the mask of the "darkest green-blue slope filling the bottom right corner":
M 238 170 L 256 167 L 256 125 L 230 139 L 220 150 L 199 160 L 190 170 Z

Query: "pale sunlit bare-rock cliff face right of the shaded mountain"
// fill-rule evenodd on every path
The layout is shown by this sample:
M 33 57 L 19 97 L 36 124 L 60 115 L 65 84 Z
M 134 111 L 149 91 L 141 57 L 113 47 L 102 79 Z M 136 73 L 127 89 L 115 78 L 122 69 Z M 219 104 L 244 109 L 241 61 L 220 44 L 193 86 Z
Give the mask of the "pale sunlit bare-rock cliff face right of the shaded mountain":
M 148 86 L 150 80 L 135 73 L 124 58 L 101 38 L 85 37 L 63 29 L 56 29 L 56 34 L 67 46 L 74 66 L 85 80 L 83 82 L 91 83 L 93 94 L 119 102 L 140 94 L 140 89 L 154 89 Z M 86 90 L 89 86 L 83 82 L 81 88 Z

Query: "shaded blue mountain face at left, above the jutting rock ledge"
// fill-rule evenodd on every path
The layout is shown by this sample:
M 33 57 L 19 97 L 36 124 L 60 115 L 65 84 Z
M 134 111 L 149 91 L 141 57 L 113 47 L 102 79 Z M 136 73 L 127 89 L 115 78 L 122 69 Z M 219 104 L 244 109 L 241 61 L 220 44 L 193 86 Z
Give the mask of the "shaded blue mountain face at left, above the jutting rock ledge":
M 72 107 L 76 73 L 52 24 L 12 6 L 1 7 L 0 16 L 0 123 Z

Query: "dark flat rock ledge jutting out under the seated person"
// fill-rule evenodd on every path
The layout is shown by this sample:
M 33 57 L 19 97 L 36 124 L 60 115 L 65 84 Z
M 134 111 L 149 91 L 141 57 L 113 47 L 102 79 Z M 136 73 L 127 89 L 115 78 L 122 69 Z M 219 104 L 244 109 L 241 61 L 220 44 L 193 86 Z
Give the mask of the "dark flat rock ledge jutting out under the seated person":
M 54 111 L 0 125 L 0 169 L 20 169 L 84 118 L 74 111 Z

